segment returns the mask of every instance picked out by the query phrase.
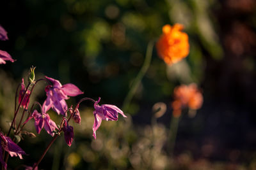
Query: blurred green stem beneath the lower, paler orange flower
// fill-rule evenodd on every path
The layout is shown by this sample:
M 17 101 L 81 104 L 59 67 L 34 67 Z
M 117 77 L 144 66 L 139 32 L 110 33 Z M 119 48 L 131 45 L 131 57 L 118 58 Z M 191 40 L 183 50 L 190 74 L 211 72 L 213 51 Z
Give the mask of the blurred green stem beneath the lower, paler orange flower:
M 171 124 L 170 124 L 168 150 L 169 150 L 171 157 L 173 156 L 173 148 L 175 146 L 175 141 L 176 141 L 176 137 L 177 137 L 177 131 L 178 131 L 178 127 L 179 127 L 179 119 L 180 119 L 180 117 L 172 117 Z

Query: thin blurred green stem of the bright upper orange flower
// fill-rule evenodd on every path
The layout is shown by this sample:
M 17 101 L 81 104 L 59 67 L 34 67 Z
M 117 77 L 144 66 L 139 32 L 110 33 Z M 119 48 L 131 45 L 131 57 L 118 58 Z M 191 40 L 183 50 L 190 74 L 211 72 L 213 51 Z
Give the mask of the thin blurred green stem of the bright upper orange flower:
M 150 41 L 148 43 L 147 46 L 147 53 L 146 53 L 146 57 L 143 63 L 143 66 L 140 69 L 140 72 L 138 73 L 138 75 L 136 76 L 134 82 L 132 83 L 132 87 L 129 90 L 127 96 L 124 99 L 124 104 L 122 106 L 122 109 L 124 111 L 127 111 L 127 109 L 129 108 L 129 105 L 131 103 L 132 97 L 134 96 L 136 90 L 138 89 L 141 80 L 143 78 L 143 76 L 145 75 L 145 73 L 148 70 L 148 67 L 150 66 L 150 62 L 151 62 L 151 58 L 152 58 L 152 51 L 153 51 L 153 46 L 154 46 L 154 41 Z

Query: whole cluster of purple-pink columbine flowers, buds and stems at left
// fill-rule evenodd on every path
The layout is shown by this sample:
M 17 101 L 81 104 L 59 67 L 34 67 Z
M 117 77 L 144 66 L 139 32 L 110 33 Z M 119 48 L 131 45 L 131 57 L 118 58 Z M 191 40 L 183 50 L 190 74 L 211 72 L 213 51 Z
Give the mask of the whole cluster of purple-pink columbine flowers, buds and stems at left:
M 7 32 L 3 29 L 3 27 L 0 26 L 0 40 L 7 40 Z M 12 62 L 14 62 L 15 60 L 12 59 L 12 57 L 4 51 L 0 50 L 0 64 L 6 64 L 5 60 L 10 60 Z M 65 141 L 67 143 L 68 146 L 72 145 L 72 141 L 74 139 L 74 128 L 69 125 L 69 121 L 72 118 L 72 120 L 74 120 L 75 123 L 77 124 L 81 124 L 81 116 L 79 113 L 79 104 L 82 101 L 85 100 L 90 100 L 93 101 L 94 103 L 94 108 L 95 111 L 93 111 L 95 120 L 94 120 L 94 124 L 93 124 L 93 137 L 96 139 L 96 131 L 97 129 L 99 129 L 100 124 L 102 122 L 102 120 L 118 120 L 118 113 L 120 113 L 123 117 L 126 117 L 124 115 L 124 112 L 122 110 L 120 110 L 118 107 L 111 105 L 111 104 L 103 104 L 102 106 L 99 105 L 99 101 L 100 101 L 100 97 L 98 101 L 94 101 L 93 99 L 90 99 L 88 97 L 85 97 L 83 99 L 81 99 L 81 101 L 79 101 L 79 103 L 77 103 L 76 107 L 73 109 L 72 106 L 70 106 L 70 108 L 68 108 L 68 105 L 66 103 L 66 100 L 69 99 L 69 97 L 74 97 L 74 96 L 78 96 L 80 94 L 83 94 L 84 92 L 82 92 L 76 85 L 72 84 L 72 83 L 67 83 L 65 85 L 61 85 L 60 81 L 55 80 L 54 78 L 49 78 L 47 76 L 45 76 L 45 78 L 42 78 L 40 80 L 44 80 L 47 81 L 49 83 L 49 85 L 47 85 L 45 87 L 45 92 L 46 92 L 46 96 L 47 98 L 45 99 L 44 103 L 41 105 L 40 103 L 35 102 L 36 104 L 38 104 L 41 108 L 40 111 L 38 110 L 33 110 L 33 106 L 31 106 L 31 110 L 30 112 L 28 111 L 28 106 L 29 106 L 29 98 L 31 96 L 31 93 L 33 92 L 33 88 L 35 87 L 36 83 L 40 80 L 34 81 L 35 80 L 35 67 L 32 67 L 30 72 L 29 72 L 29 77 L 28 77 L 28 86 L 26 87 L 25 83 L 24 83 L 24 79 L 22 78 L 22 82 L 20 83 L 20 90 L 19 90 L 19 106 L 18 108 L 16 108 L 16 102 L 15 102 L 15 114 L 13 117 L 13 121 L 12 121 L 12 125 L 10 127 L 10 130 L 7 134 L 3 134 L 3 132 L 0 132 L 0 162 L 2 164 L 2 167 L 4 167 L 4 169 L 7 169 L 7 160 L 8 160 L 8 155 L 5 154 L 5 152 L 7 152 L 7 154 L 11 155 L 12 157 L 15 156 L 19 156 L 20 159 L 22 159 L 22 155 L 26 155 L 26 152 L 24 152 L 24 150 L 22 150 L 22 148 L 20 148 L 16 143 L 14 143 L 12 141 L 12 139 L 10 137 L 8 137 L 10 135 L 10 131 L 12 129 L 15 129 L 13 132 L 15 135 L 20 135 L 22 133 L 22 128 L 24 127 L 24 125 L 26 125 L 26 123 L 31 120 L 34 119 L 35 120 L 35 129 L 36 132 L 38 134 L 40 134 L 40 132 L 42 131 L 42 129 L 45 129 L 45 131 L 50 134 L 52 137 L 54 137 L 52 139 L 52 143 L 53 141 L 56 139 L 56 137 L 60 134 L 60 132 L 63 131 L 64 133 L 64 138 Z M 18 89 L 17 89 L 18 90 Z M 16 92 L 17 94 L 17 92 Z M 16 101 L 16 99 L 15 99 Z M 23 114 L 27 111 L 29 116 L 28 118 L 23 122 L 23 124 L 21 124 L 22 122 L 22 118 L 20 118 L 20 123 L 19 125 L 16 127 L 15 124 L 15 118 L 16 115 L 19 111 L 20 108 L 23 108 Z M 50 109 L 52 109 L 54 112 L 56 112 L 58 115 L 62 115 L 62 121 L 61 124 L 58 126 L 49 116 L 49 114 L 47 113 L 47 111 L 49 111 Z M 70 112 L 70 116 L 68 117 L 68 111 Z M 31 132 L 28 132 L 29 134 L 33 134 Z M 35 134 L 33 134 L 33 136 L 35 136 Z M 51 143 L 50 143 L 51 144 Z M 51 145 L 50 145 L 51 146 Z M 45 150 L 45 153 L 47 152 L 47 150 L 49 149 L 49 147 L 47 147 L 47 149 Z M 44 154 L 43 154 L 44 155 Z M 41 159 L 42 160 L 42 159 Z M 40 160 L 38 160 L 39 162 L 35 163 L 33 165 L 33 167 L 30 166 L 25 166 L 26 169 L 38 169 L 38 164 L 40 163 Z

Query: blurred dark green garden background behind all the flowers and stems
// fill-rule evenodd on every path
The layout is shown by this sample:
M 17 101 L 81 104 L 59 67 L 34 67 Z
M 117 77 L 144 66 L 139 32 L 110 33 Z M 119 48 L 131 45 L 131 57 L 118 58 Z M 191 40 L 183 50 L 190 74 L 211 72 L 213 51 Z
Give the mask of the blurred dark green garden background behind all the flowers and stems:
M 80 106 L 81 125 L 69 148 L 63 136 L 52 146 L 40 169 L 256 169 L 256 3 L 253 0 L 65 0 L 1 1 L 0 24 L 8 41 L 0 49 L 17 61 L 0 68 L 1 130 L 13 115 L 15 89 L 36 66 L 44 75 L 74 83 L 83 96 L 122 107 L 145 59 L 147 44 L 164 24 L 183 24 L 190 53 L 166 66 L 156 49 L 145 77 L 132 98 L 129 118 L 102 122 L 92 138 L 92 103 Z M 195 82 L 204 104 L 195 118 L 180 120 L 174 156 L 166 148 L 175 86 Z M 44 83 L 32 98 L 42 103 Z M 167 106 L 154 118 L 152 106 Z M 56 122 L 60 117 L 51 113 Z M 153 121 L 154 120 L 154 121 Z M 156 121 L 155 121 L 156 120 Z M 33 122 L 28 129 L 35 132 Z M 32 165 L 51 136 L 25 138 L 29 154 L 10 159 L 9 167 Z

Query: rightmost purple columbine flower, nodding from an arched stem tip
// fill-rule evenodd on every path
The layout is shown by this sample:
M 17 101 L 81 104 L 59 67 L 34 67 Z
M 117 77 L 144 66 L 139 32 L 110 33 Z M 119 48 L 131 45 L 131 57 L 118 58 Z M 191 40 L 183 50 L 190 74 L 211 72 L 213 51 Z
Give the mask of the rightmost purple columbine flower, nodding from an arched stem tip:
M 93 137 L 96 139 L 96 131 L 99 129 L 101 121 L 102 120 L 118 120 L 118 113 L 120 113 L 123 117 L 126 117 L 124 115 L 124 112 L 120 110 L 120 108 L 111 105 L 111 104 L 102 104 L 99 106 L 100 97 L 99 100 L 94 103 L 95 111 L 93 111 L 95 120 L 92 127 L 93 130 Z

